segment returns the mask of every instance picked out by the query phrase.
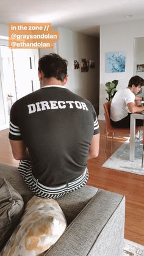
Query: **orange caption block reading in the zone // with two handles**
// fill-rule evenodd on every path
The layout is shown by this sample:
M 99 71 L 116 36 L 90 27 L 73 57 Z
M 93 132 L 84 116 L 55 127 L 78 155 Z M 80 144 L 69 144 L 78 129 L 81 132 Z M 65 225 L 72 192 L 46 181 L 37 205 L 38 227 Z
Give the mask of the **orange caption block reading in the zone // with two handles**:
M 10 23 L 9 48 L 54 48 L 59 32 L 51 23 Z

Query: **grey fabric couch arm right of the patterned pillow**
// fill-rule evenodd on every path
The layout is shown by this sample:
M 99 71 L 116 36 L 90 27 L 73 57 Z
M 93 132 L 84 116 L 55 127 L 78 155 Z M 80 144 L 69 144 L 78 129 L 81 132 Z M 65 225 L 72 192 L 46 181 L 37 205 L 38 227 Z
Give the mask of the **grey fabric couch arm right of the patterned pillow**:
M 45 255 L 123 255 L 124 209 L 124 196 L 99 189 Z

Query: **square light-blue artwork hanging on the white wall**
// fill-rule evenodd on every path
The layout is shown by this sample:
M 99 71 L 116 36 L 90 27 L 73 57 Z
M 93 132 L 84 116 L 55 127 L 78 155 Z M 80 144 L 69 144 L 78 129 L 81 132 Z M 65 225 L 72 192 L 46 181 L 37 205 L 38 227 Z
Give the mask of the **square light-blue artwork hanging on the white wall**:
M 126 65 L 126 53 L 124 51 L 113 51 L 106 54 L 106 72 L 124 72 Z

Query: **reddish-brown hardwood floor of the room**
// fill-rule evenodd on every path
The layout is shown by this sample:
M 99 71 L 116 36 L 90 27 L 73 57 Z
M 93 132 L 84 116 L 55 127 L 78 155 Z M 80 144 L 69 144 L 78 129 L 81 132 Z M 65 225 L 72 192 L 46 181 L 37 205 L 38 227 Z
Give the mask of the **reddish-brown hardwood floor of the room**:
M 117 170 L 101 167 L 107 158 L 126 141 L 126 137 L 115 134 L 113 147 L 108 142 L 105 153 L 105 122 L 99 121 L 101 129 L 100 150 L 98 158 L 88 161 L 88 185 L 108 191 L 117 192 L 126 196 L 126 219 L 124 237 L 138 244 L 144 245 L 144 177 Z M 8 130 L 0 131 L 0 163 L 18 166 L 10 150 Z M 118 136 L 117 136 L 118 135 Z

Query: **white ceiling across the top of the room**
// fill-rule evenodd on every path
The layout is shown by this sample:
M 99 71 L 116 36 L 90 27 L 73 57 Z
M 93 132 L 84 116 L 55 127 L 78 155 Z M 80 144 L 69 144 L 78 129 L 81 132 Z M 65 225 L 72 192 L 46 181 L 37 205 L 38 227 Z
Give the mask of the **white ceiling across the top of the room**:
M 0 23 L 51 23 L 99 37 L 99 25 L 144 18 L 144 0 L 0 0 Z

